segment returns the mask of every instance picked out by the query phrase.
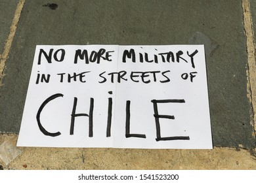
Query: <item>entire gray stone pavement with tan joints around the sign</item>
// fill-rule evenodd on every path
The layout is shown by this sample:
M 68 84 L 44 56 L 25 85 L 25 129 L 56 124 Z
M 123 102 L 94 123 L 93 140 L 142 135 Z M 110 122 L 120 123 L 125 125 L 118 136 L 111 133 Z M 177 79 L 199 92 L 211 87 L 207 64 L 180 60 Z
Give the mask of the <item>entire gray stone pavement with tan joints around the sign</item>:
M 3 0 L 0 4 L 0 144 L 9 141 L 15 146 L 37 44 L 205 44 L 215 146 L 213 150 L 18 148 L 21 154 L 8 165 L 0 159 L 5 169 L 256 168 L 255 1 Z

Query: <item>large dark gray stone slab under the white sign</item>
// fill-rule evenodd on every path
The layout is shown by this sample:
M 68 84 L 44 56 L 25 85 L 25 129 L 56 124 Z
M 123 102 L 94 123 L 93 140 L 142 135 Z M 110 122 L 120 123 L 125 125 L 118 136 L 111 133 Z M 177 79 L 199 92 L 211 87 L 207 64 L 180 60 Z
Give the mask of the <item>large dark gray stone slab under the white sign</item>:
M 219 45 L 206 58 L 213 144 L 255 147 L 241 1 L 47 3 L 24 5 L 0 88 L 0 131 L 19 131 L 37 44 L 188 44 L 200 32 L 205 46 Z

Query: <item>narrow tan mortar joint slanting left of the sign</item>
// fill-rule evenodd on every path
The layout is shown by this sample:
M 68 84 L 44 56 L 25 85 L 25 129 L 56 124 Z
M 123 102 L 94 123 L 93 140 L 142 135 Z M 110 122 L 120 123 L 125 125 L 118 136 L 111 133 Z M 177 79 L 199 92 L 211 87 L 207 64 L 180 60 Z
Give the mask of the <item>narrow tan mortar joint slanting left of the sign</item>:
M 4 75 L 4 71 L 5 71 L 5 67 L 6 67 L 6 62 L 7 62 L 7 58 L 9 56 L 9 52 L 11 50 L 11 46 L 12 46 L 12 41 L 14 38 L 14 35 L 16 33 L 16 28 L 18 26 L 18 20 L 20 20 L 20 14 L 22 12 L 22 8 L 24 7 L 24 3 L 25 0 L 20 0 L 15 13 L 14 13 L 14 18 L 12 20 L 12 25 L 10 27 L 10 32 L 9 32 L 9 36 L 7 39 L 7 42 L 5 42 L 5 48 L 3 50 L 3 54 L 0 55 L 0 86 L 2 86 L 2 79 Z

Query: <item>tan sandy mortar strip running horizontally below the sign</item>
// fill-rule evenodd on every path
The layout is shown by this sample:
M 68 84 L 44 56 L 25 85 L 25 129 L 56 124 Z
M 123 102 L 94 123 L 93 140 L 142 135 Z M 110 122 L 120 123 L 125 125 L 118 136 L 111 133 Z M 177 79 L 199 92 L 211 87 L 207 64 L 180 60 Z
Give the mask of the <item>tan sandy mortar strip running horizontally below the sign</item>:
M 0 135 L 0 144 L 15 145 L 18 135 Z M 255 150 L 213 148 L 213 150 L 145 150 L 113 148 L 26 148 L 5 165 L 8 170 L 220 170 L 256 169 Z

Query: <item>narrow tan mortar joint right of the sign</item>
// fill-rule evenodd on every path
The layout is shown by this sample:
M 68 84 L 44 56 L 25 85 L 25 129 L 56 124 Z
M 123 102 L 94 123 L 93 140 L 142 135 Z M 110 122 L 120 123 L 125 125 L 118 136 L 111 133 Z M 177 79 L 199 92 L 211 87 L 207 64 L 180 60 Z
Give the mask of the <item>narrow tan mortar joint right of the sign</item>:
M 249 8 L 249 0 L 242 0 L 244 31 L 247 47 L 247 91 L 252 106 L 252 118 L 254 132 L 256 131 L 256 65 L 255 65 L 255 42 L 253 37 L 253 24 L 251 20 L 251 11 Z M 254 134 L 255 135 L 255 134 Z

